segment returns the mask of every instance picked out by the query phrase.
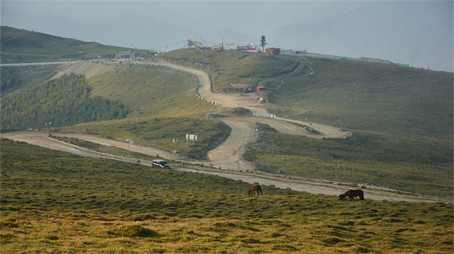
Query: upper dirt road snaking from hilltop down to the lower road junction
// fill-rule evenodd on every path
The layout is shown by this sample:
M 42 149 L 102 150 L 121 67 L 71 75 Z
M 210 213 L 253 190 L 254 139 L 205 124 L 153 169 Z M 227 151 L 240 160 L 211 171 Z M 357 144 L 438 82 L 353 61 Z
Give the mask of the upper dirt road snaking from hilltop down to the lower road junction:
M 220 118 L 221 121 L 228 124 L 232 128 L 232 133 L 225 142 L 208 152 L 207 156 L 210 162 L 206 164 L 212 164 L 215 167 L 237 171 L 253 170 L 254 164 L 249 161 L 244 161 L 242 158 L 244 152 L 246 151 L 247 145 L 256 142 L 258 137 L 258 134 L 255 132 L 256 122 L 268 124 L 283 134 L 307 136 L 315 139 L 346 138 L 351 135 L 351 133 L 345 132 L 334 126 L 316 122 L 309 123 L 306 121 L 293 120 L 283 117 L 266 117 L 267 111 L 266 108 L 264 108 L 265 105 L 257 102 L 254 93 L 213 93 L 209 75 L 204 71 L 165 62 L 146 62 L 145 64 L 172 68 L 180 72 L 192 74 L 199 81 L 200 88 L 197 92 L 202 99 L 225 107 L 245 107 L 250 109 L 253 114 L 259 116 Z M 306 126 L 311 124 L 312 128 L 319 132 L 319 134 L 310 133 L 305 128 L 302 128 L 297 124 Z

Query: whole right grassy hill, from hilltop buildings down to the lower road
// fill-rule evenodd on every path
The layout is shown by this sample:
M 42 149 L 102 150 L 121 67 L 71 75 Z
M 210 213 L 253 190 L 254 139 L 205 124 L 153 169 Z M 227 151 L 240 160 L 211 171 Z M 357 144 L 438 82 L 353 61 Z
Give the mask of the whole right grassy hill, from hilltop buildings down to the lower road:
M 247 83 L 240 77 L 249 75 L 251 88 L 265 86 L 270 112 L 355 134 L 325 141 L 265 132 L 245 156 L 262 170 L 335 180 L 332 166 L 341 163 L 344 182 L 452 197 L 452 73 L 309 58 L 314 75 L 308 76 L 300 56 L 181 49 L 161 57 L 204 69 L 218 91 L 235 91 L 228 81 Z

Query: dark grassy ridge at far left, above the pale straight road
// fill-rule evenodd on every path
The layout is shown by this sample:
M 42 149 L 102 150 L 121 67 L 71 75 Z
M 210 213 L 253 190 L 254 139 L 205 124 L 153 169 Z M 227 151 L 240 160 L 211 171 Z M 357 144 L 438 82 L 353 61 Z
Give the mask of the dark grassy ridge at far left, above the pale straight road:
M 2 63 L 93 58 L 97 55 L 115 54 L 119 50 L 129 50 L 6 26 L 0 27 L 0 34 Z M 141 49 L 133 51 L 152 53 Z

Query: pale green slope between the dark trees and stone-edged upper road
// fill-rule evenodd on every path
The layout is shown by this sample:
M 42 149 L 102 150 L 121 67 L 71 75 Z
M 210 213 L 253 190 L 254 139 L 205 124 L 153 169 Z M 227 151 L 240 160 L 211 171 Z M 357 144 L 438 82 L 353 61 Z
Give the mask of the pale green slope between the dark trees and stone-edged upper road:
M 197 115 L 217 108 L 195 97 L 197 80 L 193 76 L 165 68 L 129 66 L 91 78 L 88 83 L 92 96 L 121 101 L 132 109 L 129 118 Z

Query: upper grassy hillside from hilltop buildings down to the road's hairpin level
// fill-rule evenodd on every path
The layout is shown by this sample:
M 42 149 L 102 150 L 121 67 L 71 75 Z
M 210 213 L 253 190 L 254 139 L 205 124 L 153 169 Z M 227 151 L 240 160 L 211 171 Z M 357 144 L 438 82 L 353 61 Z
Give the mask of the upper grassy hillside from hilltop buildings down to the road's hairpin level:
M 244 92 L 263 85 L 269 108 L 279 116 L 349 129 L 452 137 L 453 74 L 383 63 L 269 57 L 238 51 L 161 54 L 171 62 L 207 71 L 215 92 Z M 283 85 L 276 89 L 279 85 Z

